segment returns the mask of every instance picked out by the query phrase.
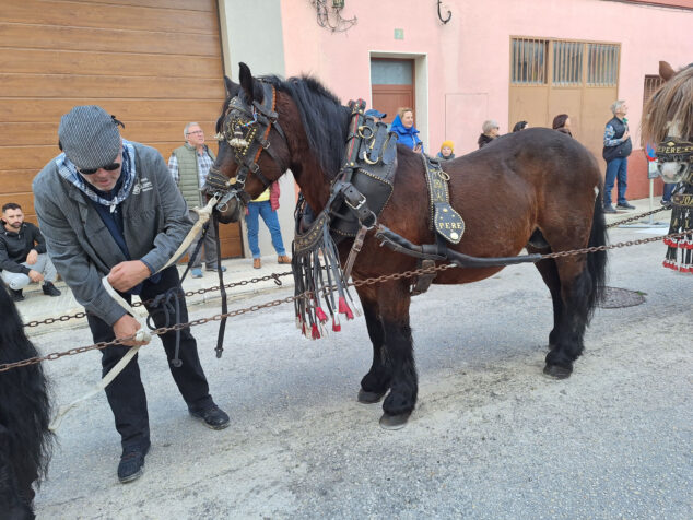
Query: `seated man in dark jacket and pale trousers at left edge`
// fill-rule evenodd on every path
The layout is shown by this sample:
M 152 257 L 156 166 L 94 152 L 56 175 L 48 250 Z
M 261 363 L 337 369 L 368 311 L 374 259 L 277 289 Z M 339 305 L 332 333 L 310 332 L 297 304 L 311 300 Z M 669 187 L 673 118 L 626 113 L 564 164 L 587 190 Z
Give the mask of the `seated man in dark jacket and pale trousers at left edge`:
M 44 282 L 44 294 L 60 296 L 52 284 L 56 268 L 46 253 L 46 240 L 34 224 L 24 222 L 20 204 L 2 206 L 3 229 L 0 234 L 0 275 L 10 286 L 12 299 L 24 299 L 22 289 L 30 282 Z

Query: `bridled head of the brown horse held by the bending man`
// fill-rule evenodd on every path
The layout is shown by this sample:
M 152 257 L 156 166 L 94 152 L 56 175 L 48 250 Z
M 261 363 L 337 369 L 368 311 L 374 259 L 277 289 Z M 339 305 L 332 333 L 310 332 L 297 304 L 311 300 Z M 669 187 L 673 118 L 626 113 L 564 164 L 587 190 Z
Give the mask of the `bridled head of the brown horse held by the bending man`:
M 239 64 L 240 84 L 224 78 L 226 101 L 216 121 L 219 153 L 205 190 L 216 197 L 219 220 L 237 222 L 240 208 L 289 168 L 289 149 L 278 122 L 277 88 Z

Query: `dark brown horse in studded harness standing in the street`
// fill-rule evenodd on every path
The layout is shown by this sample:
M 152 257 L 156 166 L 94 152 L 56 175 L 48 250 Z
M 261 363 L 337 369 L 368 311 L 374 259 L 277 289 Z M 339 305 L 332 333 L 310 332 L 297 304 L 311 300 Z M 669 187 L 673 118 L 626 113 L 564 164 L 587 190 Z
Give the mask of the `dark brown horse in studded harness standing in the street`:
M 226 79 L 227 99 L 216 123 L 219 155 L 211 172 L 228 178 L 236 196 L 226 198 L 221 220 L 237 217 L 238 203 L 259 196 L 287 169 L 308 204 L 316 213 L 321 211 L 330 182 L 342 166 L 350 110 L 310 78 L 255 79 L 240 63 L 239 79 L 239 85 Z M 265 99 L 267 96 L 270 98 Z M 263 102 L 272 109 L 260 110 Z M 258 121 L 265 121 L 265 131 L 248 133 Z M 246 155 L 238 157 L 230 142 L 237 144 L 234 140 L 242 134 L 249 141 L 259 140 L 257 152 L 250 154 L 246 149 Z M 398 144 L 397 161 L 394 192 L 378 221 L 412 243 L 432 244 L 435 237 L 430 228 L 421 155 Z M 446 162 L 444 168 L 450 177 L 450 202 L 466 221 L 465 235 L 454 246 L 457 251 L 508 257 L 525 247 L 530 252 L 549 252 L 606 244 L 599 167 L 574 139 L 549 129 L 529 129 Z M 342 264 L 351 243 L 348 239 L 339 245 Z M 566 378 L 583 352 L 585 328 L 602 295 L 606 252 L 544 259 L 536 265 L 553 299 L 554 327 L 549 334 L 544 373 Z M 371 232 L 352 277 L 363 280 L 415 268 L 415 259 L 379 247 Z M 477 282 L 501 269 L 449 269 L 439 272 L 434 283 Z M 401 427 L 418 394 L 409 324 L 410 281 L 356 291 L 373 342 L 373 365 L 361 381 L 359 399 L 377 402 L 389 390 L 380 424 Z

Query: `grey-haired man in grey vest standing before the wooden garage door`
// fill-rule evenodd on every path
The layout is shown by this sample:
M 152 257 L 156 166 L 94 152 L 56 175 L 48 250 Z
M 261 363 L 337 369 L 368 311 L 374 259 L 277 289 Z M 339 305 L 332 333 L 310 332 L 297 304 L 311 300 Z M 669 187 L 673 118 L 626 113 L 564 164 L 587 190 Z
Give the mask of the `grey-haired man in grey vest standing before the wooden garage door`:
M 183 198 L 188 203 L 188 216 L 192 222 L 197 222 L 198 214 L 192 211 L 192 208 L 204 205 L 202 187 L 215 157 L 214 153 L 204 144 L 204 132 L 197 122 L 187 123 L 183 135 L 186 143 L 172 152 L 171 157 L 168 157 L 168 170 L 183 193 Z M 188 249 L 188 258 L 192 258 L 198 239 L 199 235 Z M 207 270 L 216 271 L 216 235 L 212 225 L 204 236 L 203 251 Z M 221 269 L 226 271 L 223 265 Z M 190 275 L 193 279 L 202 277 L 202 251 L 199 251 L 198 257 L 192 262 Z

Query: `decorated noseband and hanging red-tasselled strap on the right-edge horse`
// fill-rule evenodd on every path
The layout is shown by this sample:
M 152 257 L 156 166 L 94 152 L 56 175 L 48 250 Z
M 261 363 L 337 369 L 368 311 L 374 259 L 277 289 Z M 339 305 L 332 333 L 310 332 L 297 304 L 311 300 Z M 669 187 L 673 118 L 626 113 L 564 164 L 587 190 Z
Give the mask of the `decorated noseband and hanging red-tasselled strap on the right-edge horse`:
M 665 239 L 668 249 L 663 265 L 693 274 L 693 143 L 667 137 L 657 146 L 657 161 L 660 164 L 678 163 L 685 168 L 671 197 L 669 234 L 691 232 L 682 237 Z

